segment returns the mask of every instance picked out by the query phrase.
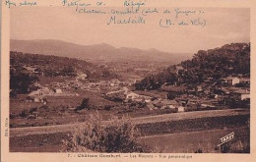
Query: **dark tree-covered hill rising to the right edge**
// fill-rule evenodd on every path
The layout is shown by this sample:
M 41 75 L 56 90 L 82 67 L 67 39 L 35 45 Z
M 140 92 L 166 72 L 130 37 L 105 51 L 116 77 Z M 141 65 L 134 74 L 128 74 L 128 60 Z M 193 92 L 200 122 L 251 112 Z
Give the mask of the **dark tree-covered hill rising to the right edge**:
M 227 76 L 250 75 L 250 43 L 231 43 L 221 48 L 200 50 L 193 59 L 169 66 L 136 83 L 137 89 L 158 89 L 163 84 L 199 84 Z

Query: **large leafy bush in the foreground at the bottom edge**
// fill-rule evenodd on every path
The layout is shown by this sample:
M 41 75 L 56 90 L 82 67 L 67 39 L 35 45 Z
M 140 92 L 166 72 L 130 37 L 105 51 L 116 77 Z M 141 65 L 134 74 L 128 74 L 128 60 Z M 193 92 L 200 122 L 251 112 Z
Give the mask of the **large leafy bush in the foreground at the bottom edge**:
M 102 122 L 97 113 L 89 122 L 74 131 L 65 140 L 66 151 L 79 152 L 89 149 L 96 152 L 149 152 L 137 141 L 138 131 L 128 118 L 112 118 Z

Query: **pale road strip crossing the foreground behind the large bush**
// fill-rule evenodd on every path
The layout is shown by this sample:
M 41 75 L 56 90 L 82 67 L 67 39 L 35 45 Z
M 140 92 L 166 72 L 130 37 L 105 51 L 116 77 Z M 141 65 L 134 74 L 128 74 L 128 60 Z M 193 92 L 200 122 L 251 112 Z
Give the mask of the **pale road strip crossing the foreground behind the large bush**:
M 136 125 L 148 123 L 160 123 L 166 121 L 178 121 L 186 119 L 210 118 L 210 117 L 224 117 L 248 115 L 249 110 L 242 109 L 225 109 L 225 110 L 209 110 L 209 111 L 194 111 L 184 113 L 163 114 L 157 116 L 137 117 L 132 118 L 131 121 Z M 107 124 L 107 121 L 104 121 Z M 74 129 L 83 126 L 84 123 L 43 126 L 43 127 L 28 127 L 28 128 L 13 128 L 10 129 L 10 136 L 24 136 L 24 135 L 39 135 L 39 134 L 55 134 L 55 133 L 70 133 Z

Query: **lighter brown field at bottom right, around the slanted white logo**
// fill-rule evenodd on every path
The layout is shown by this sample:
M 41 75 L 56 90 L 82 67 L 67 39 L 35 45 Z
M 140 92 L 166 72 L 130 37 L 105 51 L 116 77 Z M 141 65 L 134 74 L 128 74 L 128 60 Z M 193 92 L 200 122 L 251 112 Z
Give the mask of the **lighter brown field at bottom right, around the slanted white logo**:
M 234 151 L 239 152 L 241 151 L 239 149 L 246 149 L 250 143 L 250 136 L 246 127 L 166 135 L 150 135 L 141 137 L 140 142 L 162 153 L 194 153 L 199 149 L 202 150 L 203 153 L 220 153 L 220 150 L 215 149 L 221 142 L 220 138 L 232 132 L 234 133 L 233 144 L 238 143 L 238 147 L 233 148 Z

